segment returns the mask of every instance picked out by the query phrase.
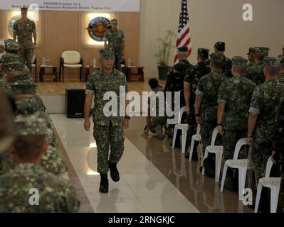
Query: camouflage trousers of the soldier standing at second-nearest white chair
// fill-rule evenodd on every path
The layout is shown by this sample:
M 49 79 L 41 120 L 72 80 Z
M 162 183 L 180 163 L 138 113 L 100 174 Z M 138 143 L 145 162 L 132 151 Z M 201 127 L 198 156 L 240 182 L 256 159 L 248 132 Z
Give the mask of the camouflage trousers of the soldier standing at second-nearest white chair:
M 233 159 L 236 143 L 241 138 L 246 138 L 246 129 L 241 130 L 223 130 L 222 143 L 223 143 L 223 159 Z M 239 159 L 248 158 L 245 147 L 242 147 L 238 154 Z

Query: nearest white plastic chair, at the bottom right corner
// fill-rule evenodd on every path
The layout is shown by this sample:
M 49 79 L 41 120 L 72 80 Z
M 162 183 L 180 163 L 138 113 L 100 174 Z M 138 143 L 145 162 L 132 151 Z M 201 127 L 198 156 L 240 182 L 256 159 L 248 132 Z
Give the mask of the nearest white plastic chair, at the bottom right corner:
M 254 213 L 258 212 L 258 205 L 259 200 L 261 199 L 261 191 L 263 187 L 269 187 L 271 189 L 270 213 L 276 213 L 277 211 L 281 177 L 269 177 L 272 165 L 273 162 L 269 157 L 266 164 L 265 177 L 259 179 L 258 181 L 258 192 L 256 193 L 256 206 L 254 209 Z

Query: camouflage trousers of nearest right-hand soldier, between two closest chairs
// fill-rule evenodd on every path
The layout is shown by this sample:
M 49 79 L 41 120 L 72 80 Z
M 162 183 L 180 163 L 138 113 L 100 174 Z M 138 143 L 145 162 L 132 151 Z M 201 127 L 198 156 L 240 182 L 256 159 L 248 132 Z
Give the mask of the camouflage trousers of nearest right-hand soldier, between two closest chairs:
M 256 172 L 256 180 L 265 176 L 266 162 L 270 156 L 270 143 L 268 141 L 262 142 L 256 140 L 253 143 L 253 170 Z

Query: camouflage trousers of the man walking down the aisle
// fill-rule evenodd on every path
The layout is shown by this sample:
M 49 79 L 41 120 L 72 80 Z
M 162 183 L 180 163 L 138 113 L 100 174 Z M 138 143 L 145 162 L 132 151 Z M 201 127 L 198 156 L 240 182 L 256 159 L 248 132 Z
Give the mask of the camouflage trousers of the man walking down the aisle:
M 125 134 L 122 124 L 113 126 L 100 126 L 94 123 L 94 138 L 98 149 L 98 173 L 105 174 L 108 172 L 108 160 L 117 163 L 122 157 L 125 150 Z M 109 157 L 110 150 L 110 157 Z

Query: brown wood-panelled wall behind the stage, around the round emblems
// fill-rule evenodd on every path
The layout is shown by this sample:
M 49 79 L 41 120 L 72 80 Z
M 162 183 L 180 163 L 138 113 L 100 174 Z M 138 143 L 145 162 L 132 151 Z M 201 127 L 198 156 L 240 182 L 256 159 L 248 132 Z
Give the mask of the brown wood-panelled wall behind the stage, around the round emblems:
M 12 11 L 0 10 L 0 38 L 11 38 L 7 31 L 11 17 Z M 103 48 L 103 43 L 88 44 L 88 12 L 41 11 L 40 18 L 41 20 L 36 22 L 38 45 L 35 54 L 38 65 L 41 65 L 42 58 L 46 57 L 59 71 L 59 59 L 64 50 L 80 52 L 85 65 L 90 65 L 90 60 L 95 57 L 99 65 L 98 50 Z M 125 33 L 125 57 L 139 62 L 140 13 L 110 13 L 110 19 L 112 18 L 118 19 L 118 28 Z M 66 69 L 65 72 L 65 78 L 78 79 L 79 70 Z

